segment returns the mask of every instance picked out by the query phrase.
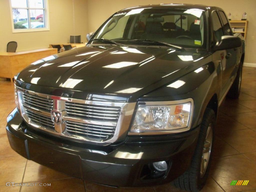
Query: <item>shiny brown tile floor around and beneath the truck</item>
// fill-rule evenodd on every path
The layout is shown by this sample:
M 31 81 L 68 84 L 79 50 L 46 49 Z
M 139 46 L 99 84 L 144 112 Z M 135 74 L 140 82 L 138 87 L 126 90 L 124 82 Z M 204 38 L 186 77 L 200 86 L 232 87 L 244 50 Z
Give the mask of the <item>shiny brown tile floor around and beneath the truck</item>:
M 5 132 L 6 117 L 15 107 L 13 85 L 0 80 L 0 191 L 177 192 L 170 184 L 118 189 L 72 178 L 29 161 L 14 152 Z M 241 95 L 225 99 L 218 115 L 210 175 L 204 192 L 256 191 L 256 68 L 244 67 Z M 230 186 L 232 180 L 250 180 L 247 186 Z M 7 187 L 6 182 L 51 183 L 50 187 Z

